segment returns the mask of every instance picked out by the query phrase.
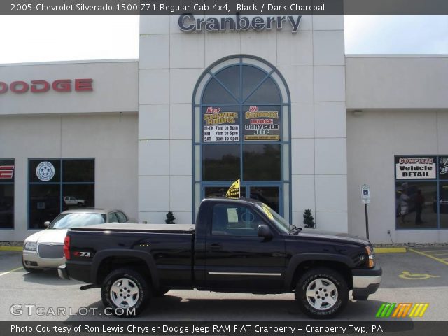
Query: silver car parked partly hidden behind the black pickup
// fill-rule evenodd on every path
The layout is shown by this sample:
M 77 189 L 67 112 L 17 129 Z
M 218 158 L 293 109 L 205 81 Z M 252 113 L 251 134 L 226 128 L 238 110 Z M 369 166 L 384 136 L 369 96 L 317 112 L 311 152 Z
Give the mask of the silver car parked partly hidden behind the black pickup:
M 71 209 L 59 214 L 45 230 L 25 239 L 22 265 L 27 272 L 42 272 L 65 263 L 64 239 L 69 228 L 102 223 L 130 223 L 124 211 L 118 209 Z M 135 222 L 134 222 L 135 223 Z

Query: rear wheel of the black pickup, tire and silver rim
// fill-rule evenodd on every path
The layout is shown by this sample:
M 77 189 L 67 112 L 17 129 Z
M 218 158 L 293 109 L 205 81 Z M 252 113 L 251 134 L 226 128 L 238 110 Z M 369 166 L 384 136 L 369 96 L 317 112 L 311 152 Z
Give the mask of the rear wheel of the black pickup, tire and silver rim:
M 104 306 L 119 317 L 137 316 L 151 297 L 148 282 L 134 269 L 120 268 L 112 271 L 101 289 Z

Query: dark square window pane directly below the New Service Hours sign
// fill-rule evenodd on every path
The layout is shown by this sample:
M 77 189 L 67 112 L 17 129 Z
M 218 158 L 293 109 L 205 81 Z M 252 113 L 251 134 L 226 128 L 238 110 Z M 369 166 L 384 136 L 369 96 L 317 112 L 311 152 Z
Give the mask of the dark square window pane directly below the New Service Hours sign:
M 202 180 L 235 181 L 239 178 L 238 145 L 202 146 Z

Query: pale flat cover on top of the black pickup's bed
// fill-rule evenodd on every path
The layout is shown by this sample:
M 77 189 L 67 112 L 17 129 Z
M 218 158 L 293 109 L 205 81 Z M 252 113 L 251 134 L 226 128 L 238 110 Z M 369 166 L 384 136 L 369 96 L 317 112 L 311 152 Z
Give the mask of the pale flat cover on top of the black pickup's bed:
M 195 233 L 194 224 L 124 224 L 106 223 L 71 228 L 72 231 L 113 231 L 113 232 L 155 232 L 155 233 Z

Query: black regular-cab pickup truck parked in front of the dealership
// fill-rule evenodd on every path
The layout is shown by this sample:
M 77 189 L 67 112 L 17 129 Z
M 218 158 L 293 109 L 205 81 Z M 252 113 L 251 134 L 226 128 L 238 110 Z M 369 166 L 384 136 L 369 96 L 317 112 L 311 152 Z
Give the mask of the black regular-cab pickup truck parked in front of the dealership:
M 102 224 L 72 228 L 59 276 L 102 288 L 120 316 L 170 289 L 295 293 L 313 318 L 367 300 L 381 283 L 372 245 L 346 234 L 301 230 L 262 202 L 203 200 L 196 225 Z M 125 314 L 123 313 L 125 311 Z M 129 312 L 129 313 L 126 313 Z

